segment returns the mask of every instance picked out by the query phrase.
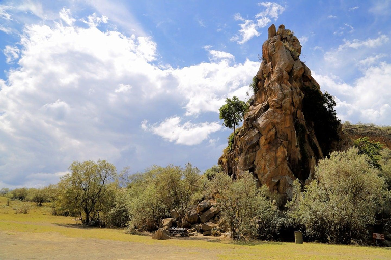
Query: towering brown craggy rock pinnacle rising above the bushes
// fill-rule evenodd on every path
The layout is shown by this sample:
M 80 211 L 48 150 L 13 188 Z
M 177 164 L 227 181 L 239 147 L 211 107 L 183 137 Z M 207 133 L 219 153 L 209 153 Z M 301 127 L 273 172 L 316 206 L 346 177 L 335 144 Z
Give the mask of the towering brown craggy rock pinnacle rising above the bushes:
M 300 53 L 300 42 L 290 30 L 270 26 L 243 126 L 232 150 L 226 149 L 218 161 L 230 175 L 249 170 L 260 185 L 288 196 L 293 180 L 311 180 L 319 159 L 348 145 L 332 106 L 321 103 L 319 84 Z

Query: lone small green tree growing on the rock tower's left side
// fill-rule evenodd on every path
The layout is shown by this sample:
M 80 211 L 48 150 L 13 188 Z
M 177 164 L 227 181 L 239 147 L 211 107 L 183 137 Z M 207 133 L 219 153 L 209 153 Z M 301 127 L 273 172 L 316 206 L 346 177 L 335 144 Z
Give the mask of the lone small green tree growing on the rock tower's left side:
M 227 98 L 226 104 L 222 105 L 218 110 L 220 111 L 220 119 L 224 120 L 222 124 L 234 130 L 234 144 L 235 128 L 236 126 L 239 126 L 239 122 L 242 121 L 247 108 L 244 101 L 239 100 L 237 96 L 233 96 L 232 99 Z

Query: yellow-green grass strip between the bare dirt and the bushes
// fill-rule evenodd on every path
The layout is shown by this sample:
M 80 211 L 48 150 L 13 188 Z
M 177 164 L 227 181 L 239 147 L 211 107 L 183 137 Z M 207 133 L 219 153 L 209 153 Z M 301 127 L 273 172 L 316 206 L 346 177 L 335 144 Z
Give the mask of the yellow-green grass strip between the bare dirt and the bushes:
M 85 228 L 72 217 L 52 216 L 48 204 L 38 207 L 31 204 L 28 214 L 15 214 L 18 201 L 5 206 L 0 197 L 0 230 L 9 235 L 15 232 L 61 234 L 73 238 L 98 238 L 128 241 L 144 245 L 179 246 L 200 251 L 209 250 L 220 259 L 391 259 L 389 248 L 328 245 L 319 243 L 280 243 L 263 241 L 232 241 L 224 239 L 194 240 L 192 238 L 152 240 L 150 236 L 125 234 L 121 229 Z

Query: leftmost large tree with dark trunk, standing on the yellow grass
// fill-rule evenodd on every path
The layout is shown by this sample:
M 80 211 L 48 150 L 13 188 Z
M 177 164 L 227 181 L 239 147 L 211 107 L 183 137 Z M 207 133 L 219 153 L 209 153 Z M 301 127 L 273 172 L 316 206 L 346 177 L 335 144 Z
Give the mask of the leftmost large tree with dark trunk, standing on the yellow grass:
M 74 161 L 70 174 L 65 175 L 60 183 L 61 205 L 72 214 L 85 216 L 86 224 L 108 205 L 110 199 L 109 183 L 116 176 L 116 167 L 106 160 L 92 160 L 82 163 Z

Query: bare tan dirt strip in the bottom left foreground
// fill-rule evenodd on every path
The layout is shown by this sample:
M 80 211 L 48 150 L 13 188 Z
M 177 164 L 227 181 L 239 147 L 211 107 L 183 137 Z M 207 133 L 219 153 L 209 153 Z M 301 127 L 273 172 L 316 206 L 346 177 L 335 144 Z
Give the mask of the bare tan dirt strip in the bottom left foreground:
M 219 250 L 0 231 L 0 259 L 216 259 Z

